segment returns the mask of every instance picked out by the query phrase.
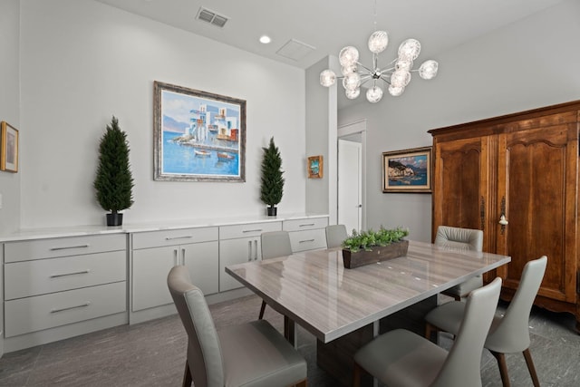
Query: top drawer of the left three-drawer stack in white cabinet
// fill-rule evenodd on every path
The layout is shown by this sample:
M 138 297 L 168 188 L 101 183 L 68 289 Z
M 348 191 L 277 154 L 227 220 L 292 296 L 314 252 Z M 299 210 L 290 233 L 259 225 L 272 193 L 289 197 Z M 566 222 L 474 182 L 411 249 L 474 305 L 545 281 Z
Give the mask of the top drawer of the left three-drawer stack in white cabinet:
M 58 237 L 5 243 L 5 262 L 126 250 L 125 234 Z

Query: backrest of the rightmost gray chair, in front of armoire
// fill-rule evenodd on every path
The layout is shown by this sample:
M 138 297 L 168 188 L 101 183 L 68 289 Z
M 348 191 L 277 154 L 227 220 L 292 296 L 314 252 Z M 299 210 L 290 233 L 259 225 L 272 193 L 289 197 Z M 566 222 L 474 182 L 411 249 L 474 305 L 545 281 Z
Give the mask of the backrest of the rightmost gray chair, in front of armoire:
M 486 347 L 498 353 L 516 353 L 529 348 L 529 314 L 546 272 L 547 256 L 527 262 L 516 294 L 503 318 L 494 321 Z

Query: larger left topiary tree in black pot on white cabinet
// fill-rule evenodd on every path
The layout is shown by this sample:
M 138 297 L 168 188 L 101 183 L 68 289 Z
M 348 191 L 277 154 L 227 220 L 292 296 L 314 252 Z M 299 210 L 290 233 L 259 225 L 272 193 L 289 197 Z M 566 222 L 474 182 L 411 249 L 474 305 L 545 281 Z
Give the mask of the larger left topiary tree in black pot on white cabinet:
M 119 121 L 113 116 L 99 145 L 99 166 L 93 187 L 97 201 L 107 214 L 107 226 L 122 224 L 119 211 L 133 204 L 132 189 L 135 186 L 129 164 L 129 142 L 127 134 L 119 128 Z

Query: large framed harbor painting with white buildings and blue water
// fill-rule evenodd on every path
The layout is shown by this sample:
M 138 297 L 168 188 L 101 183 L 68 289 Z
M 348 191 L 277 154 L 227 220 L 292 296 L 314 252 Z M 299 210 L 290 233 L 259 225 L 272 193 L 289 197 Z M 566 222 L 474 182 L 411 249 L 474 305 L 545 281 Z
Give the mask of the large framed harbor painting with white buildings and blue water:
M 153 82 L 154 178 L 246 181 L 246 101 Z

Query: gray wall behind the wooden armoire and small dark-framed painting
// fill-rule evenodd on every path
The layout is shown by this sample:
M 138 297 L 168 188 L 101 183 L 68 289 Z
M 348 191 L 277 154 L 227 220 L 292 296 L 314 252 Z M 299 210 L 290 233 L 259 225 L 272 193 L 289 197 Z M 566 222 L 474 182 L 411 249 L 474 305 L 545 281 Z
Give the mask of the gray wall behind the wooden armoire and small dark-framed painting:
M 413 74 L 401 97 L 339 111 L 339 125 L 367 119 L 368 227 L 410 227 L 430 241 L 430 194 L 383 194 L 383 151 L 429 146 L 430 129 L 580 99 L 578 15 L 576 0 L 555 5 L 440 53 L 438 77 Z

